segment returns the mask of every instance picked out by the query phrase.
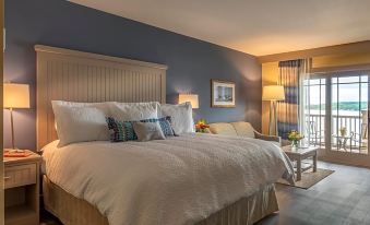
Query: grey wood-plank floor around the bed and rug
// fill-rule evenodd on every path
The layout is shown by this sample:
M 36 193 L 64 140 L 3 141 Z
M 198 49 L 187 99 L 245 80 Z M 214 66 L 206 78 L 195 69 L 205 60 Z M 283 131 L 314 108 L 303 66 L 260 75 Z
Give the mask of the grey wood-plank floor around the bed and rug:
M 308 190 L 276 185 L 279 213 L 258 225 L 370 225 L 370 169 L 319 162 L 335 170 Z M 60 223 L 47 213 L 43 225 Z

